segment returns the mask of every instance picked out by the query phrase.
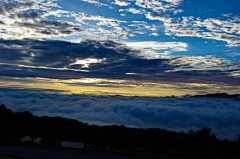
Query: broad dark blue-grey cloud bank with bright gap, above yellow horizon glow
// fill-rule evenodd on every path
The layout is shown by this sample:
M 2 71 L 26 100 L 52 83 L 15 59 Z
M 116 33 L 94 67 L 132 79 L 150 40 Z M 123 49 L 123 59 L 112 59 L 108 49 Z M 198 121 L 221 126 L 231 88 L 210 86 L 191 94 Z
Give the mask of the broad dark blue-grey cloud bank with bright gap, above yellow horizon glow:
M 146 54 L 148 48 L 168 54 L 168 49 L 184 51 L 187 44 L 0 39 L 0 84 L 6 86 L 12 80 L 22 82 L 24 78 L 26 81 L 31 78 L 31 82 L 35 79 L 34 83 L 45 80 L 71 86 L 174 88 L 207 92 L 239 89 L 239 63 L 214 56 L 159 58 L 156 53 Z

